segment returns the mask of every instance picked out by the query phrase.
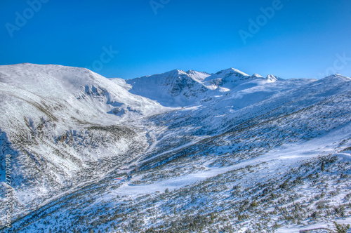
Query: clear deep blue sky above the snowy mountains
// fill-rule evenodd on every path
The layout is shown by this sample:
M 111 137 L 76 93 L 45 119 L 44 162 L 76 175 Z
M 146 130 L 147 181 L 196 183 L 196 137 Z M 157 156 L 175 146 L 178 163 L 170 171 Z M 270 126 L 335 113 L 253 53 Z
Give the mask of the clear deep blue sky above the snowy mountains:
M 0 1 L 0 65 L 94 65 L 124 79 L 229 67 L 285 79 L 351 76 L 349 0 L 282 0 L 279 7 L 278 0 L 153 0 L 154 8 L 150 0 L 45 1 Z M 260 8 L 273 5 L 274 16 L 263 16 Z M 244 44 L 239 30 L 250 33 L 250 19 L 261 26 Z

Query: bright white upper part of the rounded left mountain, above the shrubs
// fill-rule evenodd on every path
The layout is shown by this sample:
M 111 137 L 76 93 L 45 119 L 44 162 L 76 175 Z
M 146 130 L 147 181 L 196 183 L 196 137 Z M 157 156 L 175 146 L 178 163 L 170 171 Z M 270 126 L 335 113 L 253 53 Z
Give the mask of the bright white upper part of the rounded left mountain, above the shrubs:
M 132 95 L 115 82 L 88 69 L 19 64 L 1 66 L 0 72 L 2 91 L 8 95 L 21 98 L 28 96 L 29 100 L 34 98 L 36 102 L 39 99 L 60 100 L 65 102 L 65 105 L 73 106 L 74 110 L 80 110 L 86 119 L 93 119 L 98 114 L 122 110 L 124 114 L 121 114 L 120 118 L 123 119 L 126 116 L 132 117 L 134 114 L 151 114 L 155 109 L 161 109 L 156 102 Z M 91 109 L 84 111 L 86 106 Z M 57 112 L 67 114 L 67 112 Z M 74 115 L 74 111 L 69 112 L 69 115 Z M 113 119 L 115 121 L 116 118 Z

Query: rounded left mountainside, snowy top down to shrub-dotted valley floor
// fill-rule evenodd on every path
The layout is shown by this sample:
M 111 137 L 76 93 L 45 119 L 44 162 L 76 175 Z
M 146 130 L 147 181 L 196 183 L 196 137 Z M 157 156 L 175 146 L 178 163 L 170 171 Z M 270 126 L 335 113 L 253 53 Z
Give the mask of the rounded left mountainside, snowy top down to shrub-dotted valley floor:
M 147 148 L 146 132 L 121 124 L 167 110 L 88 69 L 58 65 L 1 66 L 0 102 L 0 179 L 11 154 L 18 210 L 132 160 Z

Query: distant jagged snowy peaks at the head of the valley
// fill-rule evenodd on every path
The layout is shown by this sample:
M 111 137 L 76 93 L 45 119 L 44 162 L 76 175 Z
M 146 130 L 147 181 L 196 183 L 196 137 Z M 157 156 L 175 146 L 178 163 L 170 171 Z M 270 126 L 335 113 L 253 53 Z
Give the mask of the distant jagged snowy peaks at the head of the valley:
M 273 75 L 263 78 L 259 74 L 245 74 L 237 69 L 225 69 L 216 74 L 190 70 L 172 70 L 164 74 L 143 76 L 126 80 L 128 91 L 157 100 L 161 105 L 169 107 L 185 107 L 194 105 L 206 96 L 230 91 L 232 88 L 249 81 L 274 82 L 282 80 Z

